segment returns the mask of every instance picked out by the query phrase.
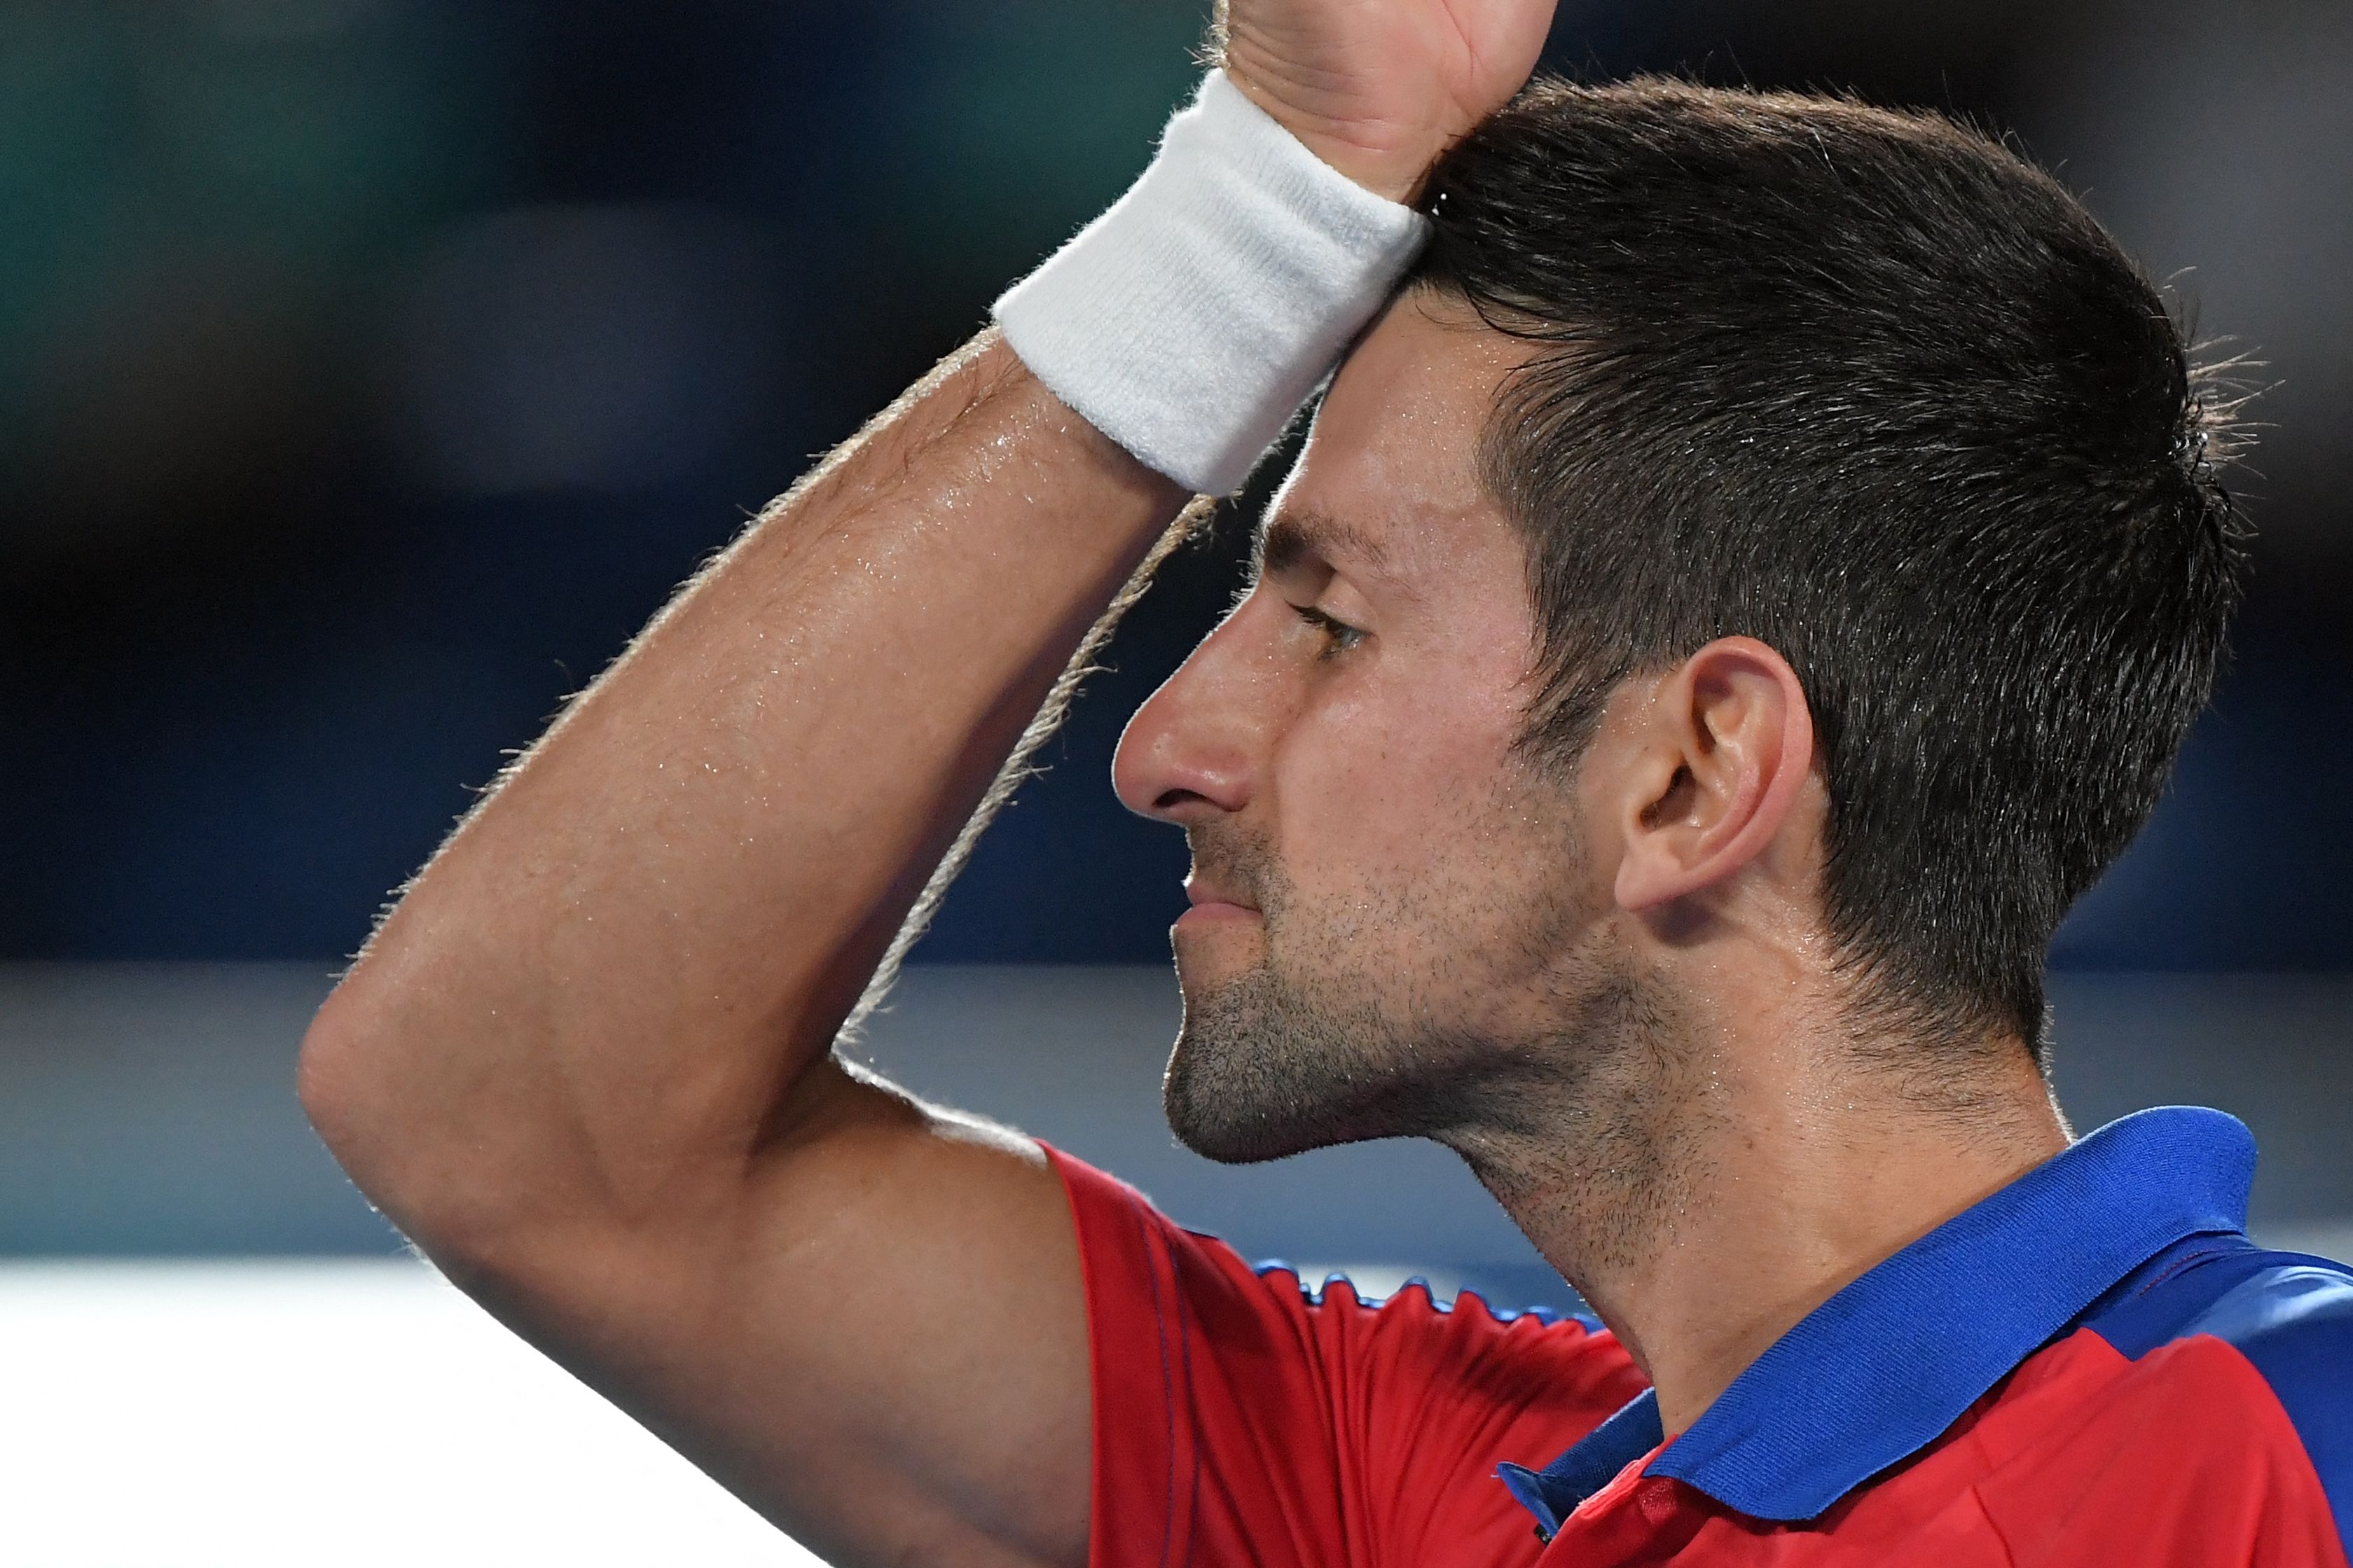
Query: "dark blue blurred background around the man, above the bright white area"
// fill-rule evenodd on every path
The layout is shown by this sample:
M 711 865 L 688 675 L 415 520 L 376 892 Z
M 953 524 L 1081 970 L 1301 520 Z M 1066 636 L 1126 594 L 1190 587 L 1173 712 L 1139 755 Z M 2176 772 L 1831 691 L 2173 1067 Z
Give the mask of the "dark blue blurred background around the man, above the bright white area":
M 287 1093 L 334 964 L 746 512 L 1132 179 L 1205 9 L 0 5 L 0 1253 L 391 1246 Z M 2353 1213 L 2353 12 L 1565 0 L 1551 63 L 2007 127 L 2278 383 L 2238 661 L 2059 940 L 2059 1060 L 2101 1114 L 2245 1107 L 2271 1213 Z M 1537 1291 L 1442 1161 L 1212 1173 L 1151 1119 L 1184 853 L 1106 771 L 1240 543 L 1122 628 L 873 1051 L 1257 1248 Z M 1127 1065 L 1073 1077 L 1092 1039 Z

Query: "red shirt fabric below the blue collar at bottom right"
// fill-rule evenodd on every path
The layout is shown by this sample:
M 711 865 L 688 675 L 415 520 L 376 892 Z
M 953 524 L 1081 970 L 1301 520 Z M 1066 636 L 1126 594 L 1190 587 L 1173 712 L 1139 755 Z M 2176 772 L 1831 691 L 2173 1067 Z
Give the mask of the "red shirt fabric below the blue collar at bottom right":
M 1645 1462 L 1567 1519 L 1544 1568 L 2346 1568 L 2287 1413 L 2205 1335 L 2127 1361 L 2078 1331 L 1809 1523 L 1734 1514 Z

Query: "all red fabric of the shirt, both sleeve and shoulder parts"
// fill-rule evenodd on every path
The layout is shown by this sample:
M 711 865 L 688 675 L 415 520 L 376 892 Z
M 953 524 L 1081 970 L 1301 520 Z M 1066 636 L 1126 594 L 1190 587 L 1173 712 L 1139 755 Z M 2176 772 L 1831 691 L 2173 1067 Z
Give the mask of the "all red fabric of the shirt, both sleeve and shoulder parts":
M 2191 1338 L 2092 1331 L 2031 1356 L 1927 1450 L 1800 1526 L 1628 1465 L 1539 1544 L 1494 1479 L 1642 1392 L 1607 1333 L 1475 1298 L 1311 1302 L 1132 1187 L 1047 1150 L 1071 1194 L 1094 1363 L 1094 1568 L 2348 1568 L 2264 1378 Z

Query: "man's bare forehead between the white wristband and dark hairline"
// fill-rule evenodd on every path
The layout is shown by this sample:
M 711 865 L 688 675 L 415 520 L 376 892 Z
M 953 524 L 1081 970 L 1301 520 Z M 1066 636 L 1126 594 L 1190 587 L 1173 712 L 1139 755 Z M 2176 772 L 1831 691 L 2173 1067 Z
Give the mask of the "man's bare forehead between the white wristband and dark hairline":
M 1341 364 L 1268 512 L 1268 564 L 1304 552 L 1405 583 L 1492 564 L 1520 543 L 1480 482 L 1480 437 L 1532 346 L 1468 306 L 1405 294 Z

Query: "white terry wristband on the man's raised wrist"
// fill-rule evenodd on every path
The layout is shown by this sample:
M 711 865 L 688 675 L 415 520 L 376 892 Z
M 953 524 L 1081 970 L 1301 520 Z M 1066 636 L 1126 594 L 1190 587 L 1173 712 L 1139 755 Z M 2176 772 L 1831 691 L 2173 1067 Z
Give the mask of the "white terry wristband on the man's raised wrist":
M 1426 230 L 1212 71 L 1144 176 L 1007 289 L 995 320 L 1087 423 L 1179 484 L 1226 496 L 1381 308 Z

